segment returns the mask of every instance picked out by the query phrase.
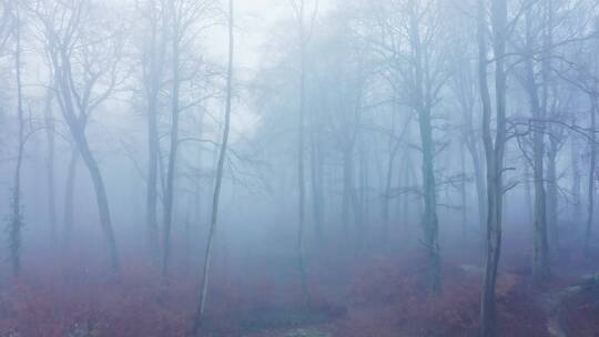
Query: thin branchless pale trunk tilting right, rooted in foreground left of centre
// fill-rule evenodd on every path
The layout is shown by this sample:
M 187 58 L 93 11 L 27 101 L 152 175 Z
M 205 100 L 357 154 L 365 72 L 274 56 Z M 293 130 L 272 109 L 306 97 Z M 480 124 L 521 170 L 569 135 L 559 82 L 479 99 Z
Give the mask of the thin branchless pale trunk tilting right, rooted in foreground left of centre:
M 234 40 L 234 34 L 233 34 L 233 27 L 234 27 L 233 2 L 234 0 L 229 0 L 229 67 L 227 67 L 227 74 L 226 74 L 225 124 L 224 124 L 224 131 L 223 131 L 223 141 L 221 144 L 221 151 L 219 155 L 219 164 L 216 168 L 216 182 L 214 184 L 214 195 L 212 198 L 212 216 L 211 216 L 211 222 L 210 222 L 210 233 L 209 233 L 209 239 L 207 239 L 207 245 L 206 245 L 206 253 L 204 256 L 204 272 L 202 273 L 200 305 L 195 314 L 195 321 L 193 325 L 193 335 L 197 334 L 199 328 L 202 324 L 202 319 L 204 317 L 205 308 L 206 308 L 210 269 L 211 269 L 211 263 L 212 263 L 212 252 L 213 252 L 214 237 L 216 234 L 216 225 L 217 225 L 217 219 L 219 219 L 219 202 L 221 197 L 223 171 L 224 171 L 224 164 L 226 160 L 226 151 L 229 146 L 229 134 L 231 131 L 231 104 L 232 104 L 232 98 L 233 98 L 233 64 L 234 64 L 233 57 L 234 57 L 234 45 L 235 45 L 235 40 Z

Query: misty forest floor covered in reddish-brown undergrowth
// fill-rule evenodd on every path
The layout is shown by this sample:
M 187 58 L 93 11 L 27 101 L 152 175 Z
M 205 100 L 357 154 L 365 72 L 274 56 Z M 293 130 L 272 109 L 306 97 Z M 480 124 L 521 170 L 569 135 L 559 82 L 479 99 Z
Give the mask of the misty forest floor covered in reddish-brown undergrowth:
M 577 246 L 562 246 L 552 257 L 551 282 L 539 289 L 529 282 L 527 244 L 514 239 L 504 246 L 499 336 L 599 336 L 599 289 L 560 295 L 599 270 L 599 254 L 585 258 Z M 298 304 L 288 252 L 254 253 L 238 262 L 221 254 L 201 336 L 475 336 L 478 244 L 444 247 L 444 292 L 436 298 L 423 287 L 419 249 L 400 246 L 368 254 L 342 253 L 335 245 L 313 252 L 309 309 Z M 83 263 L 89 256 L 68 254 L 58 265 L 35 256 L 19 278 L 0 284 L 0 337 L 177 337 L 189 330 L 199 287 L 187 264 L 174 266 L 164 283 L 159 268 L 134 254 L 124 255 L 120 275 L 101 263 Z

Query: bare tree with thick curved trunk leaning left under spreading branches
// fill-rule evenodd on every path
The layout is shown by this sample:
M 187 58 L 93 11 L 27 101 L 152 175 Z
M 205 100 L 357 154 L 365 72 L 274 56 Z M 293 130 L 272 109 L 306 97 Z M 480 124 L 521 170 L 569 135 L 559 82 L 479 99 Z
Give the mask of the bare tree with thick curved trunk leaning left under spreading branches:
M 105 29 L 105 22 L 93 16 L 92 3 L 87 1 L 72 0 L 57 6 L 38 1 L 33 11 L 45 38 L 57 101 L 77 151 L 90 173 L 110 263 L 118 270 L 119 254 L 104 178 L 85 130 L 92 112 L 111 96 L 121 82 L 122 39 L 113 32 L 99 30 Z M 92 34 L 103 37 L 98 39 Z

